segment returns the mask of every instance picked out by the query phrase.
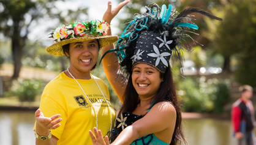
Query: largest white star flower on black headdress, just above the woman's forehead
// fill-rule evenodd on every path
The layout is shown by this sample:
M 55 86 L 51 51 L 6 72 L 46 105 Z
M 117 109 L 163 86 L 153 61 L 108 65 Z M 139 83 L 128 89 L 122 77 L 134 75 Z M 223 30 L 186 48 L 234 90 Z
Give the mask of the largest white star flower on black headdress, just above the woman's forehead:
M 159 65 L 160 60 L 161 60 L 162 63 L 164 63 L 165 66 L 168 66 L 167 60 L 165 60 L 164 57 L 167 57 L 171 54 L 169 52 L 163 52 L 162 54 L 160 54 L 158 48 L 155 45 L 153 45 L 153 48 L 154 48 L 154 51 L 156 52 L 156 54 L 151 53 L 151 54 L 148 54 L 148 55 L 150 57 L 157 57 L 156 66 Z

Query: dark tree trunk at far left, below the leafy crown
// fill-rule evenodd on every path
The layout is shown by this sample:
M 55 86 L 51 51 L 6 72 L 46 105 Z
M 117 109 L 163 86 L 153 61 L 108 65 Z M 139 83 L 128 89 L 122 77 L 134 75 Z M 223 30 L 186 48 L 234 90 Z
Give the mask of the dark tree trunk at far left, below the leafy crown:
M 13 58 L 13 66 L 14 66 L 12 79 L 17 79 L 19 77 L 20 69 L 21 69 L 23 43 L 21 41 L 21 37 L 19 35 L 20 31 L 18 30 L 18 28 L 15 29 L 13 33 L 17 35 L 13 35 L 12 37 L 12 58 Z

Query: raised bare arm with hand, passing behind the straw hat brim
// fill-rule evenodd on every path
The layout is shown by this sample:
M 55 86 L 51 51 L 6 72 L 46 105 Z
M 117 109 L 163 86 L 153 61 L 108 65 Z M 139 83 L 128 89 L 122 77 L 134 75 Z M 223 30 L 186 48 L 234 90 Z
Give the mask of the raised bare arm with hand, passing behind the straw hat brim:
M 124 7 L 124 5 L 126 5 L 128 2 L 130 2 L 130 0 L 125 0 L 120 4 L 118 4 L 115 7 L 115 9 L 112 9 L 111 1 L 108 1 L 108 9 L 104 13 L 103 20 L 105 20 L 108 24 L 110 24 L 111 20 L 118 14 L 119 10 L 121 10 L 122 7 Z M 111 29 L 108 30 L 107 35 L 112 35 Z M 102 55 L 105 54 L 105 52 L 107 52 L 108 50 L 113 48 L 115 48 L 114 44 L 105 46 L 104 48 L 102 48 Z M 107 55 L 105 55 L 105 57 L 102 59 L 102 64 L 103 64 L 104 72 L 107 76 L 108 82 L 110 82 L 111 87 L 116 92 L 121 102 L 123 102 L 124 99 L 122 98 L 122 94 L 124 93 L 124 88 L 120 86 L 121 85 L 120 83 L 115 82 L 116 72 L 118 71 L 118 67 L 119 67 L 118 58 L 116 57 L 115 52 L 110 52 Z

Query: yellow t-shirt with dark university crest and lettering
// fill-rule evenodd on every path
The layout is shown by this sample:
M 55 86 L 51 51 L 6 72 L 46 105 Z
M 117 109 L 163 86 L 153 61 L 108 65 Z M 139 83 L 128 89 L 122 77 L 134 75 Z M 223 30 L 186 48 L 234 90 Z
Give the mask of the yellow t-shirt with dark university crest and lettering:
M 107 85 L 101 79 L 94 78 L 105 98 L 110 101 Z M 94 79 L 77 80 L 96 108 L 98 129 L 104 136 L 107 135 L 110 130 L 110 111 L 102 93 Z M 96 127 L 96 115 L 78 83 L 64 72 L 51 80 L 43 90 L 40 109 L 46 117 L 61 114 L 61 126 L 51 130 L 51 134 L 59 139 L 58 144 L 92 144 L 88 132 Z M 115 110 L 111 106 L 110 110 L 113 128 Z

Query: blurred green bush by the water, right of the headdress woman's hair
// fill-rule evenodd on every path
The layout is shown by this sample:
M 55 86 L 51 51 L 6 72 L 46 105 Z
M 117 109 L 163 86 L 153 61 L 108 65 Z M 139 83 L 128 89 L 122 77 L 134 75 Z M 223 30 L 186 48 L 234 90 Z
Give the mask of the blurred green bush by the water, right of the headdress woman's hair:
M 178 83 L 178 90 L 184 111 L 220 113 L 230 98 L 227 83 L 218 79 L 187 77 Z

